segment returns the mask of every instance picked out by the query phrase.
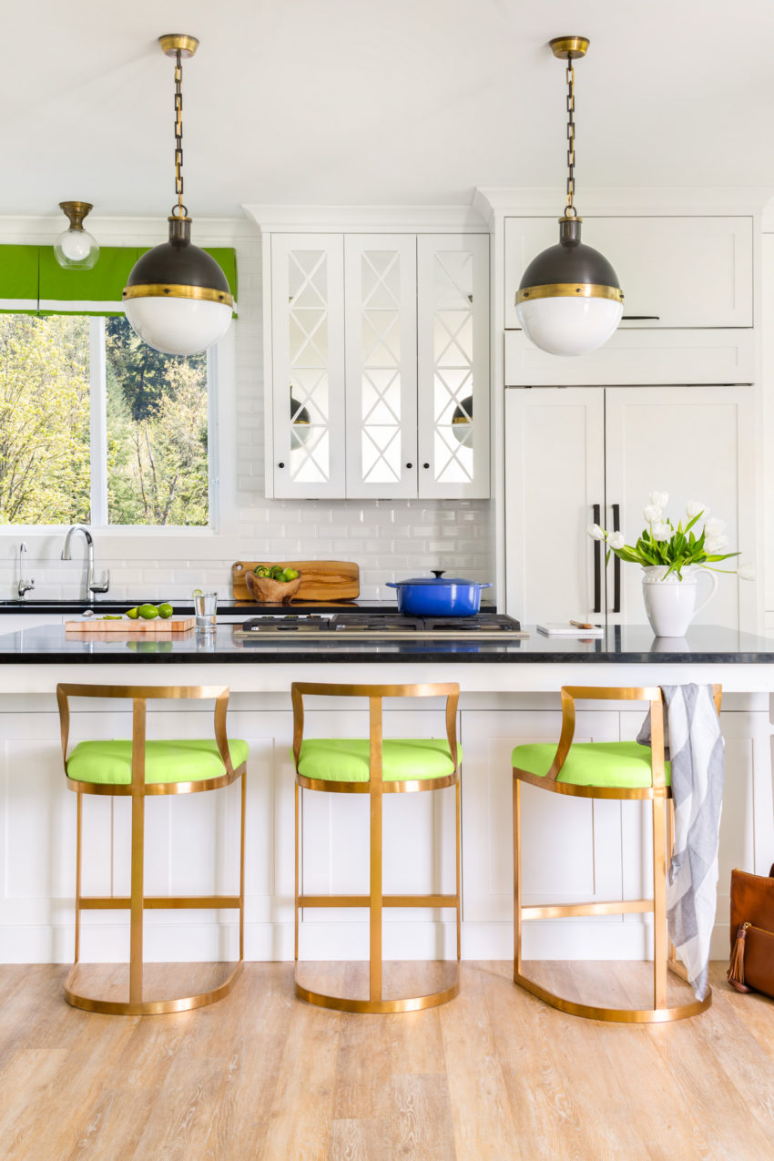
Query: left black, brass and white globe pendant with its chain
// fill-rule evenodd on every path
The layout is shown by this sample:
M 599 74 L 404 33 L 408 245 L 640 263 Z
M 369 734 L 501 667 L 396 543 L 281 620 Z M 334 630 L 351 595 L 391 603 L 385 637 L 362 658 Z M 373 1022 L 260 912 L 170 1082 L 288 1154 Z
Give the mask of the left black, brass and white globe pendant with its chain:
M 195 36 L 160 36 L 175 60 L 175 194 L 167 218 L 169 240 L 139 259 L 123 291 L 126 318 L 150 347 L 169 355 L 193 355 L 217 342 L 231 324 L 229 281 L 208 253 L 191 245 L 190 218 L 183 205 L 182 60 L 198 46 Z

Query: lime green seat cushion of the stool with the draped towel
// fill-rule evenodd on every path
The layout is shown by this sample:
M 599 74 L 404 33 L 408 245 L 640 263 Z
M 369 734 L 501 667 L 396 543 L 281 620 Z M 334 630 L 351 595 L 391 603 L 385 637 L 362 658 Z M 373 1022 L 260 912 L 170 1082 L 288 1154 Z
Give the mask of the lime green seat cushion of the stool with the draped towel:
M 609 786 L 632 788 L 650 786 L 652 781 L 650 747 L 638 742 L 577 742 L 570 747 L 566 762 L 557 783 L 573 786 Z M 513 765 L 537 778 L 545 778 L 556 757 L 554 742 L 518 745 L 512 755 Z M 665 783 L 671 785 L 672 767 L 664 764 Z

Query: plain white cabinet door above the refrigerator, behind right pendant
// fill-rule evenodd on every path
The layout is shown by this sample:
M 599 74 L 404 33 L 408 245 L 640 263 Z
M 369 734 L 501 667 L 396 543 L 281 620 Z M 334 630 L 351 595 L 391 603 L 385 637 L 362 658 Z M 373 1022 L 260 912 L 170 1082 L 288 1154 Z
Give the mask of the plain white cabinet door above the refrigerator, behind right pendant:
M 613 264 L 624 294 L 621 327 L 751 327 L 752 217 L 586 217 L 583 241 Z M 505 222 L 505 325 L 531 259 L 558 240 L 556 218 Z

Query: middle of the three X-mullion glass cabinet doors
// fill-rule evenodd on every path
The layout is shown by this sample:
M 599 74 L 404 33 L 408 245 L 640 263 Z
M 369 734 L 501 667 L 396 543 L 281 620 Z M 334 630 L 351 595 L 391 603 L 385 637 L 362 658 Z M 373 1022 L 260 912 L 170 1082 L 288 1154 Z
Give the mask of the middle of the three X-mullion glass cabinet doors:
M 347 496 L 417 495 L 417 239 L 346 235 Z

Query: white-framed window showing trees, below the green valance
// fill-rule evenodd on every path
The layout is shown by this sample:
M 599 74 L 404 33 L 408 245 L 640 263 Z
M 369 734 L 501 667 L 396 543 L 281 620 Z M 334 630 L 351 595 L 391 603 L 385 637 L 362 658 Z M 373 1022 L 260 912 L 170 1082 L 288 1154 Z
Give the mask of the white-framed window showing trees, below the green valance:
M 0 315 L 0 520 L 207 526 L 209 380 L 123 316 Z

